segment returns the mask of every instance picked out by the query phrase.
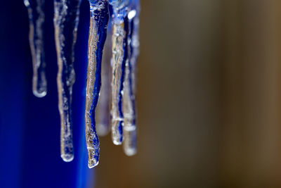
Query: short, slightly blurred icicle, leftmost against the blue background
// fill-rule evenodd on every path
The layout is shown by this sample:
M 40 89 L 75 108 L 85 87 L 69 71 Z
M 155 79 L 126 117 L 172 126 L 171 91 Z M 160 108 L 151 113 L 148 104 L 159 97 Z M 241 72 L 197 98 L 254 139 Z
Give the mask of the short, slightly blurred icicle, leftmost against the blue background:
M 47 82 L 44 57 L 44 30 L 45 20 L 44 0 L 24 0 L 30 19 L 30 49 L 32 52 L 33 78 L 32 92 L 37 97 L 47 94 Z

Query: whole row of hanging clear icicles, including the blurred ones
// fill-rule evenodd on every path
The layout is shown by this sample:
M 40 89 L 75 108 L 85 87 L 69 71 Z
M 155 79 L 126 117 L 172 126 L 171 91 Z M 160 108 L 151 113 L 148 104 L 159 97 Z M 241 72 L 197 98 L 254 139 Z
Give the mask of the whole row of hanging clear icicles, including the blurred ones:
M 42 29 L 44 0 L 24 0 L 24 3 L 30 19 L 30 48 L 34 73 L 32 91 L 35 96 L 43 97 L 47 93 Z M 60 153 L 63 161 L 72 161 L 74 158 L 71 106 L 72 85 L 75 81 L 74 44 L 77 39 L 80 4 L 81 0 L 54 0 L 53 22 L 58 58 L 58 109 L 61 126 Z M 135 96 L 140 4 L 138 0 L 89 0 L 89 4 L 91 18 L 85 136 L 88 165 L 89 168 L 93 168 L 98 165 L 99 160 L 98 135 L 107 134 L 110 128 L 114 144 L 123 144 L 124 152 L 128 156 L 136 153 Z M 109 25 L 111 30 L 107 36 L 108 23 L 111 23 Z M 108 44 L 105 44 L 107 37 L 111 39 L 107 39 Z M 107 46 L 105 54 L 104 46 Z

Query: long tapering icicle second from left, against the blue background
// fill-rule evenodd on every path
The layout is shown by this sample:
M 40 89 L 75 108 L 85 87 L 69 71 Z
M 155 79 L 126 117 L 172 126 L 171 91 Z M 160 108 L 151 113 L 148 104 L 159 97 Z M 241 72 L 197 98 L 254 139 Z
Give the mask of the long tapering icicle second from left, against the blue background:
M 55 47 L 58 56 L 58 109 L 60 111 L 60 155 L 72 161 L 72 85 L 75 82 L 74 44 L 77 38 L 81 0 L 55 0 Z

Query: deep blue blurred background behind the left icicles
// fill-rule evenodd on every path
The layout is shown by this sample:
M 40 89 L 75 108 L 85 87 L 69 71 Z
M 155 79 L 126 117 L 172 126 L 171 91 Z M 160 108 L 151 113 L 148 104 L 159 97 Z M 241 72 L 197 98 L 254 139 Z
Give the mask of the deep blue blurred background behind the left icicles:
M 53 1 L 46 1 L 45 50 L 48 93 L 32 94 L 29 22 L 22 0 L 0 6 L 0 187 L 86 187 L 93 181 L 84 141 L 89 2 L 82 1 L 74 69 L 74 161 L 60 158 L 60 117 Z

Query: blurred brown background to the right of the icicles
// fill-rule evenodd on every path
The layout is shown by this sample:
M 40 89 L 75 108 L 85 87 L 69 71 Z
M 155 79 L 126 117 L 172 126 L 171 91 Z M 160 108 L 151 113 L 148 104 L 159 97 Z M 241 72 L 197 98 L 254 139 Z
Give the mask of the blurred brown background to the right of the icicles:
M 138 154 L 98 188 L 281 187 L 281 1 L 142 0 Z

